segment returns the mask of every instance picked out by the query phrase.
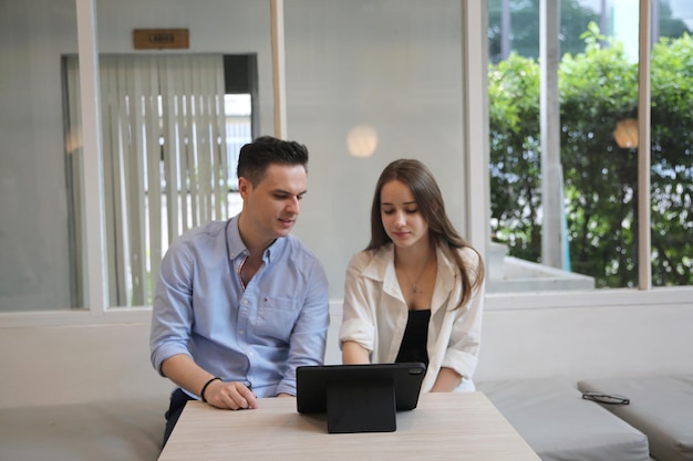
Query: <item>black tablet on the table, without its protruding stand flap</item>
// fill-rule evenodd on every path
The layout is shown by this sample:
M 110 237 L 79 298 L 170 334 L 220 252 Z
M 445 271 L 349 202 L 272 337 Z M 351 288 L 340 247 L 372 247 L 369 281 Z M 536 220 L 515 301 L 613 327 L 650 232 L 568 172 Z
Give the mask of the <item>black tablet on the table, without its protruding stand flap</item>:
M 421 363 L 302 366 L 296 370 L 297 409 L 301 413 L 327 411 L 328 389 L 339 396 L 344 390 L 391 387 L 396 411 L 412 410 L 418 404 L 426 366 Z

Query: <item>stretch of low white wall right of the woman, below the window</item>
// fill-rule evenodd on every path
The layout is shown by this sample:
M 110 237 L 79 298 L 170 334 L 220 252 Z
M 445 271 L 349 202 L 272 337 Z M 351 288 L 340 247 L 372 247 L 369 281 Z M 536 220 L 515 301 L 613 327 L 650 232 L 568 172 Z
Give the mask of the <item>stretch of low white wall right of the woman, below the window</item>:
M 663 293 L 487 297 L 476 378 L 693 373 L 690 291 Z

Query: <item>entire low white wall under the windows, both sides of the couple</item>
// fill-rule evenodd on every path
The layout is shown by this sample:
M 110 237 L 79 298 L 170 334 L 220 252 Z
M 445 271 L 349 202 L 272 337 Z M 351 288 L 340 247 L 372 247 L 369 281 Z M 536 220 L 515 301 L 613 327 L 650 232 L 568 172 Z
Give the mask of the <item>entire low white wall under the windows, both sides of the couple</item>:
M 693 304 L 623 293 L 593 306 L 560 296 L 513 305 L 489 297 L 475 380 L 693 373 Z M 534 300 L 532 300 L 534 297 Z M 632 301 L 631 300 L 635 300 Z M 341 302 L 331 303 L 325 363 L 341 362 Z M 0 327 L 0 408 L 166 395 L 149 364 L 148 313 L 138 322 Z

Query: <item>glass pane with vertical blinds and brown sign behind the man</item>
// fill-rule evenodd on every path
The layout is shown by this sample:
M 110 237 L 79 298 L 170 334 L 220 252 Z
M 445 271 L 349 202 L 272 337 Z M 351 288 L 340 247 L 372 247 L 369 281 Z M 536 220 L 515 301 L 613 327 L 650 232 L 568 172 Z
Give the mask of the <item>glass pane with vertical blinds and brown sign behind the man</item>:
M 238 150 L 271 132 L 260 122 L 271 119 L 260 116 L 271 111 L 269 4 L 96 7 L 108 305 L 151 305 L 170 241 L 240 210 Z

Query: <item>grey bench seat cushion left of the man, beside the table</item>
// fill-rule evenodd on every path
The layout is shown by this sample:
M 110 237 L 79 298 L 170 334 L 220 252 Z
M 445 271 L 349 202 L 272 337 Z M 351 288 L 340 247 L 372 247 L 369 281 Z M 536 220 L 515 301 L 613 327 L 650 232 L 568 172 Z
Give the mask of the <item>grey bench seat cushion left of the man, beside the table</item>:
M 0 460 L 155 461 L 167 396 L 0 409 Z

